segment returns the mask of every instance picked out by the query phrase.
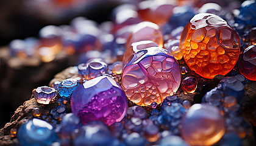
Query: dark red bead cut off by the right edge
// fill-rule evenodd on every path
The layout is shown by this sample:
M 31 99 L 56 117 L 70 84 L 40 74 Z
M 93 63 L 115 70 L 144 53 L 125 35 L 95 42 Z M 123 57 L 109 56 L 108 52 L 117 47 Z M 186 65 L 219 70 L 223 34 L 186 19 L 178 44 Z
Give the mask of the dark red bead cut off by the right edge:
M 238 61 L 241 74 L 249 80 L 256 80 L 256 45 L 247 47 Z

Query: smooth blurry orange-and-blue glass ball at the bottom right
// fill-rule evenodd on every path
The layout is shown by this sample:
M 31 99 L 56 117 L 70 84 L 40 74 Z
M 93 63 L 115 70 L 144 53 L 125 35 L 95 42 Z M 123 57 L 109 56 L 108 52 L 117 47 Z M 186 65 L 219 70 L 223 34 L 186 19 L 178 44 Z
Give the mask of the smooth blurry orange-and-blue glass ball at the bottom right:
M 224 117 L 215 106 L 194 104 L 182 119 L 181 133 L 190 145 L 213 145 L 225 133 Z

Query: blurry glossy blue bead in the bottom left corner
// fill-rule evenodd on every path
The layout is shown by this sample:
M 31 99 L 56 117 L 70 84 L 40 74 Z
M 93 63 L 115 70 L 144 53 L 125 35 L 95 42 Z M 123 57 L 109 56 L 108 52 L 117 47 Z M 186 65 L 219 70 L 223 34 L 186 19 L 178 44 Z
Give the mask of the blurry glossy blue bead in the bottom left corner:
M 51 145 L 57 140 L 54 127 L 40 119 L 32 119 L 21 125 L 17 137 L 20 145 Z

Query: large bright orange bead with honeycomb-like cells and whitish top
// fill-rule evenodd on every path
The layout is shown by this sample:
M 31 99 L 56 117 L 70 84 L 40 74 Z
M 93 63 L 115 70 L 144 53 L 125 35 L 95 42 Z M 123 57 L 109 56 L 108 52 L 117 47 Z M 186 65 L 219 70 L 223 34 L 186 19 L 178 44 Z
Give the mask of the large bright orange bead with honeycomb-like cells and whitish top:
M 191 70 L 213 78 L 233 69 L 240 54 L 240 39 L 224 19 L 199 13 L 184 27 L 180 49 Z

